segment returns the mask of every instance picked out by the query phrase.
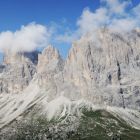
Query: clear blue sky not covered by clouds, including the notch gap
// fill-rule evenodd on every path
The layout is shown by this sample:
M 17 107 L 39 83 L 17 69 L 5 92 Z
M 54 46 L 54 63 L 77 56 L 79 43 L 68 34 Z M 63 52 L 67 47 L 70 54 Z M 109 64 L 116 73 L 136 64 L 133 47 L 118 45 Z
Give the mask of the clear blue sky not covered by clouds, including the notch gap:
M 138 4 L 139 0 L 132 0 L 132 7 Z M 66 29 L 77 30 L 76 22 L 84 8 L 94 12 L 100 6 L 99 0 L 0 0 L 0 32 L 15 31 L 35 21 L 45 26 L 60 25 L 57 33 L 63 34 Z M 71 44 L 52 43 L 66 57 Z

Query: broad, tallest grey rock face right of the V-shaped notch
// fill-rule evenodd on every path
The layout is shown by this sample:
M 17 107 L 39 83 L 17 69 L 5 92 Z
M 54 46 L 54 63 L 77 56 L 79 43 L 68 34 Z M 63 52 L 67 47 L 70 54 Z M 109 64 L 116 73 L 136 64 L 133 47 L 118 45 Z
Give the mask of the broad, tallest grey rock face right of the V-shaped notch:
M 66 60 L 65 81 L 74 83 L 81 96 L 92 102 L 140 108 L 139 33 L 123 36 L 105 29 L 97 35 L 96 41 L 89 34 L 73 43 Z

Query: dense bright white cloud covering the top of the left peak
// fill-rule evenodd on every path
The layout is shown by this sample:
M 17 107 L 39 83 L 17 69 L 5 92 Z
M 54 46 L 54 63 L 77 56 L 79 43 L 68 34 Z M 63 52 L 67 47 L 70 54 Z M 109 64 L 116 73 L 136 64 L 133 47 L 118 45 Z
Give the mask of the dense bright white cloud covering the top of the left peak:
M 0 51 L 30 52 L 36 48 L 45 47 L 50 35 L 51 32 L 45 26 L 30 23 L 15 32 L 0 33 Z

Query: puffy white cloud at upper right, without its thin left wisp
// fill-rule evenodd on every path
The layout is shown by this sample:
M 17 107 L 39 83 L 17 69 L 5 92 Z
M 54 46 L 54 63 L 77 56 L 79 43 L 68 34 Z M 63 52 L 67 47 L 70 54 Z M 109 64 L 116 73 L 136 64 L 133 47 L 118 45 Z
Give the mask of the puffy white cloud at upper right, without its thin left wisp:
M 140 11 L 139 6 L 128 10 L 131 1 L 102 0 L 101 2 L 102 6 L 95 12 L 89 9 L 83 11 L 78 20 L 80 31 L 84 30 L 84 33 L 87 33 L 106 26 L 111 30 L 127 32 L 138 26 L 139 14 L 136 13 Z M 132 16 L 132 12 L 135 12 L 135 17 Z

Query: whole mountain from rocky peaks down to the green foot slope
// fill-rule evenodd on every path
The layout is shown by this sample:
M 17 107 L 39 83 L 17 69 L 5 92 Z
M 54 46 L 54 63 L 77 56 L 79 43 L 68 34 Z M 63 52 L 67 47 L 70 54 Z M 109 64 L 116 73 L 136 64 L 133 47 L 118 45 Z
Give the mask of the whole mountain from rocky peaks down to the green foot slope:
M 0 71 L 3 139 L 25 137 L 25 130 L 37 130 L 43 140 L 50 135 L 48 139 L 140 137 L 138 29 L 86 34 L 72 44 L 65 60 L 51 45 L 42 53 L 6 51 Z

